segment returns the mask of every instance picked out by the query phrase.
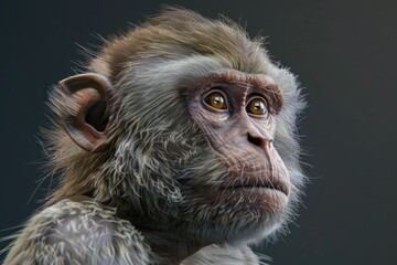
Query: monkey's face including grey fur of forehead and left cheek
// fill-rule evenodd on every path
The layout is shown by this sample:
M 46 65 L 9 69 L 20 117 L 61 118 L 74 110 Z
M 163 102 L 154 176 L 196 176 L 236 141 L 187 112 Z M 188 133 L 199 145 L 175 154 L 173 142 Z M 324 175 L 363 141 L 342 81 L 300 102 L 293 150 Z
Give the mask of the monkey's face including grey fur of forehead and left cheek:
M 125 135 L 115 174 L 129 176 L 135 206 L 218 242 L 280 225 L 292 189 L 273 146 L 278 84 L 205 57 L 148 61 L 133 61 L 116 87 Z

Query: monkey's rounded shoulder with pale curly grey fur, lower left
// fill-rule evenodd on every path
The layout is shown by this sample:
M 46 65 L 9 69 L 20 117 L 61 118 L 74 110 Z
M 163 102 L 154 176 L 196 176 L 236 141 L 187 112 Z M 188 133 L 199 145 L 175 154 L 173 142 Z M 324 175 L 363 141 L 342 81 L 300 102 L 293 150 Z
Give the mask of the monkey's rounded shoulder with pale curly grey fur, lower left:
M 4 264 L 149 264 L 150 248 L 116 210 L 63 200 L 33 215 Z

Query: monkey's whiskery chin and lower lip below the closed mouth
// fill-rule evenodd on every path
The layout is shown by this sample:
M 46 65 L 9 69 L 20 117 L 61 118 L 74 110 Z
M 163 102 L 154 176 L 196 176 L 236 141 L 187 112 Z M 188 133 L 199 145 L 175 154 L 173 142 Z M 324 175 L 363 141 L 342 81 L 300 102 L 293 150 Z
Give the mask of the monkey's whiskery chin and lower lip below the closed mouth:
M 216 243 L 264 239 L 285 222 L 288 195 L 271 188 L 202 190 L 205 236 Z M 200 233 L 200 232 L 198 232 Z

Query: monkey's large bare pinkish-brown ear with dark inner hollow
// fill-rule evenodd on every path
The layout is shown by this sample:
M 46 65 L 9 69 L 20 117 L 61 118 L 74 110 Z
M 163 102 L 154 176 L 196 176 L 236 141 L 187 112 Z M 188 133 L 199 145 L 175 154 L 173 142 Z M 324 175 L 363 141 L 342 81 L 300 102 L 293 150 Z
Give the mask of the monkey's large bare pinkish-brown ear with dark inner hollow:
M 114 88 L 110 82 L 103 75 L 88 73 L 65 78 L 60 86 L 77 104 L 75 114 L 63 117 L 67 134 L 86 151 L 104 150 L 111 123 L 109 100 Z

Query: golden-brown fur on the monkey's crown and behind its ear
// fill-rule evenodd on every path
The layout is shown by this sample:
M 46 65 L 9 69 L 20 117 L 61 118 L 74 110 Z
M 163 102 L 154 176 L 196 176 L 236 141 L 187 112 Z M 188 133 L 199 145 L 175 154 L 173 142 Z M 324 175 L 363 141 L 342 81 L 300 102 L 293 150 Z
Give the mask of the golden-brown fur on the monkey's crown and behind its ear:
M 88 68 L 117 82 L 126 63 L 135 56 L 159 52 L 167 57 L 169 47 L 183 46 L 190 49 L 190 54 L 186 55 L 213 55 L 230 68 L 257 73 L 266 70 L 265 63 L 268 61 L 261 41 L 262 39 L 249 40 L 246 32 L 229 20 L 208 20 L 190 10 L 169 8 L 126 35 L 107 41 Z M 57 112 L 55 106 L 53 109 Z M 114 137 L 117 134 L 118 131 Z M 109 200 L 109 190 L 103 182 L 106 177 L 97 173 L 111 150 L 105 153 L 86 153 L 73 144 L 66 144 L 71 139 L 62 128 L 55 134 L 50 131 L 47 136 L 53 145 L 51 150 L 54 150 L 51 160 L 53 172 L 63 170 L 67 165 L 60 189 L 54 192 L 47 205 L 77 194 L 94 195 L 100 202 Z

